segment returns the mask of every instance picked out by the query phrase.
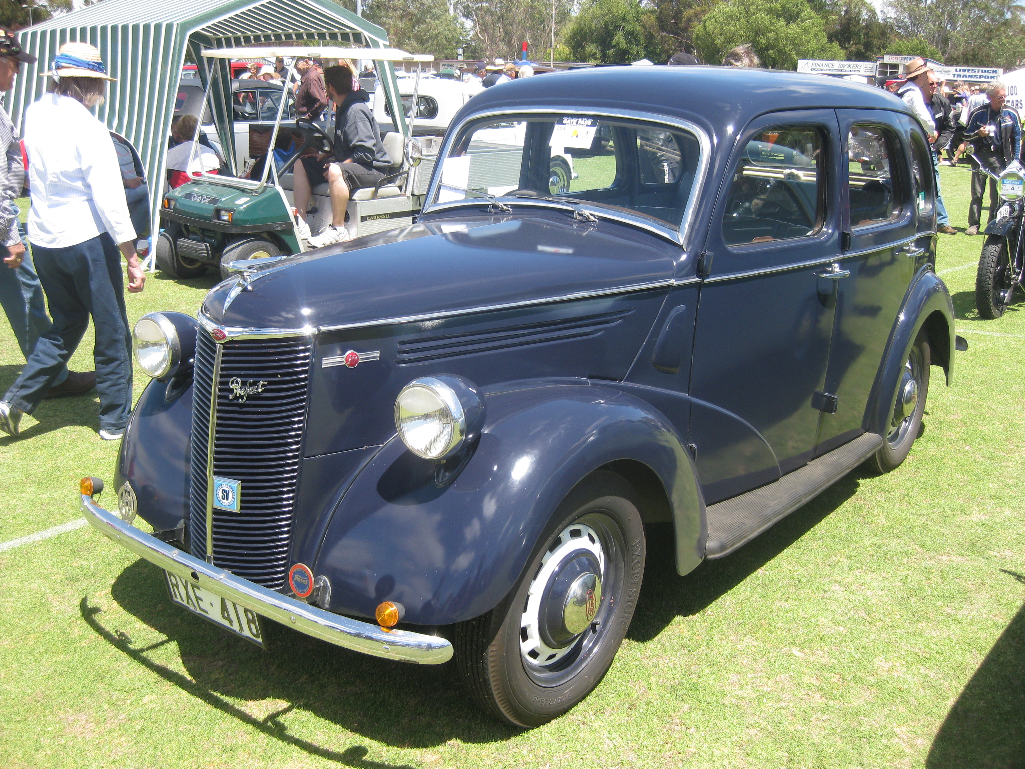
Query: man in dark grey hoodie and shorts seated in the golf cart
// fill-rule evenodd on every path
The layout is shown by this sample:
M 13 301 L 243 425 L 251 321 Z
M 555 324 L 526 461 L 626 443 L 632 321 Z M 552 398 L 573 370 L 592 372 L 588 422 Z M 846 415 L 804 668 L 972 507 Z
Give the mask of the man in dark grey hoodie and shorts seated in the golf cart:
M 325 153 L 303 158 L 302 163 L 295 164 L 293 176 L 295 207 L 303 224 L 312 188 L 327 181 L 331 196 L 331 224 L 319 235 L 305 236 L 312 248 L 348 240 L 345 208 L 350 197 L 356 190 L 374 187 L 392 166 L 370 110 L 370 94 L 353 90 L 353 71 L 343 65 L 328 67 L 324 70 L 324 85 L 328 98 L 335 104 L 334 157 L 329 159 Z

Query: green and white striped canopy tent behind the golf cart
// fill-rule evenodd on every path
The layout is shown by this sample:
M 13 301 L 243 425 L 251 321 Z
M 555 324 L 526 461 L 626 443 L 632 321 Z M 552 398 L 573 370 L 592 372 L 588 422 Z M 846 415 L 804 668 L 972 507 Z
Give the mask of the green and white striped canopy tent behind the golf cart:
M 138 150 L 156 222 L 187 50 L 200 64 L 205 85 L 200 51 L 207 48 L 300 41 L 383 48 L 387 33 L 332 0 L 104 0 L 18 33 L 22 46 L 39 62 L 22 68 L 7 95 L 5 107 L 14 125 L 46 91 L 49 78 L 40 74 L 49 71 L 57 49 L 70 40 L 99 48 L 108 74 L 117 78 L 96 116 Z M 366 58 L 373 53 L 368 50 Z M 391 113 L 403 120 L 392 65 L 381 63 L 377 72 Z M 231 141 L 231 130 L 227 133 Z

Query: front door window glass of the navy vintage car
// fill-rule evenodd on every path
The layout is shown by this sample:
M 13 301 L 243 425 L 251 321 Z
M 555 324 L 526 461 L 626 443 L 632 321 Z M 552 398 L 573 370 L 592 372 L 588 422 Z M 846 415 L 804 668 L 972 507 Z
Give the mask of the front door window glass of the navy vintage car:
M 822 226 L 822 131 L 778 126 L 750 138 L 727 198 L 723 241 L 768 243 L 814 235 Z

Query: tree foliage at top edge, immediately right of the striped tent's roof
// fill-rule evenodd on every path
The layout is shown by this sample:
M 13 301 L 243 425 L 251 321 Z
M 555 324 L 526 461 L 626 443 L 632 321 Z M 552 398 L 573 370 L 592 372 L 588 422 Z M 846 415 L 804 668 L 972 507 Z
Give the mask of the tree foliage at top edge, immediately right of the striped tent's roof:
M 465 35 L 446 0 L 370 0 L 363 15 L 383 27 L 397 48 L 436 58 L 455 58 Z

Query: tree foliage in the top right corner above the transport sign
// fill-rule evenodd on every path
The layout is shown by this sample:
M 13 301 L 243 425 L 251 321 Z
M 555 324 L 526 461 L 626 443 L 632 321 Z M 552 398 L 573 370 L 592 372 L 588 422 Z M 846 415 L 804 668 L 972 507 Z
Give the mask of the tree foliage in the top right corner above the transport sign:
M 902 39 L 921 40 L 945 64 L 1015 68 L 1025 57 L 1016 0 L 887 0 Z

